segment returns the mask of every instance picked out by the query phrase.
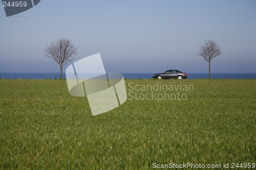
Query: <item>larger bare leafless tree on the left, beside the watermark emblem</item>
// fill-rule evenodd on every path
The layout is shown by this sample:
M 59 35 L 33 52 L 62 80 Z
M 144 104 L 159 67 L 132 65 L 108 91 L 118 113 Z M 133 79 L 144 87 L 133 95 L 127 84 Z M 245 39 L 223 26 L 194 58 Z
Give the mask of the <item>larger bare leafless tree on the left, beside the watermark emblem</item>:
M 70 39 L 58 38 L 57 41 L 52 41 L 49 46 L 43 49 L 45 56 L 53 59 L 60 66 L 60 79 L 62 79 L 63 65 L 71 62 L 77 55 L 77 47 L 71 43 Z

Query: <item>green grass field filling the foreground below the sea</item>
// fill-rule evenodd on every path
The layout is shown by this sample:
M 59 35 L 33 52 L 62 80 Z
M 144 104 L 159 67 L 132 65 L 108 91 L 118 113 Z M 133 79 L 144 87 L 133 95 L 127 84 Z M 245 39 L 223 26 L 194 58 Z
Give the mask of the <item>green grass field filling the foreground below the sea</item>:
M 151 100 L 140 100 L 148 93 L 163 94 L 141 90 L 157 83 L 193 85 L 194 90 L 164 89 L 186 100 L 152 100 L 150 95 Z M 71 96 L 65 80 L 1 79 L 0 168 L 153 169 L 153 163 L 187 162 L 223 168 L 223 163 L 256 163 L 255 79 L 125 84 L 131 93 L 123 105 L 92 116 L 87 98 Z

